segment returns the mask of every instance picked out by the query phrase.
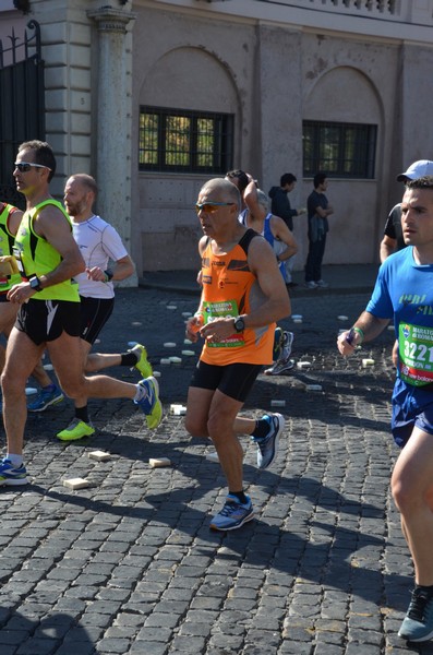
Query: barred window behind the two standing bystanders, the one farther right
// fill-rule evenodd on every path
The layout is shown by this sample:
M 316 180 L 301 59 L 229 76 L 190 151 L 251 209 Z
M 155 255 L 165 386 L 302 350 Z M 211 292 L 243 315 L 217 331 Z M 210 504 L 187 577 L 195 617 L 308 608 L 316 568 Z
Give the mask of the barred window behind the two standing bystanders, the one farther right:
M 303 175 L 374 178 L 377 126 L 303 121 Z

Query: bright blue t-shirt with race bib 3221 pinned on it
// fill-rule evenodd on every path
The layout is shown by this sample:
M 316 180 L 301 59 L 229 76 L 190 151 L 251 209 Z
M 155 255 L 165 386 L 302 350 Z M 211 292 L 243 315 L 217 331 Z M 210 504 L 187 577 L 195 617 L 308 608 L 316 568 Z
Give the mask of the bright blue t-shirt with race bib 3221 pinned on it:
M 417 264 L 411 246 L 388 257 L 366 311 L 380 319 L 394 317 L 397 376 L 413 386 L 433 383 L 433 264 Z

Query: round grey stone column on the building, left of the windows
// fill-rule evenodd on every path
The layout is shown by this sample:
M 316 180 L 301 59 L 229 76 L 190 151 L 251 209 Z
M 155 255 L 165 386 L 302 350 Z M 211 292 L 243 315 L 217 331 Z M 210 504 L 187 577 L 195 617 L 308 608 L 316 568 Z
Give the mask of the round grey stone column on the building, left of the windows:
M 128 24 L 132 14 L 112 7 L 88 11 L 98 27 L 96 180 L 98 214 L 113 225 L 128 251 L 131 247 L 132 48 Z M 134 275 L 122 283 L 137 286 Z

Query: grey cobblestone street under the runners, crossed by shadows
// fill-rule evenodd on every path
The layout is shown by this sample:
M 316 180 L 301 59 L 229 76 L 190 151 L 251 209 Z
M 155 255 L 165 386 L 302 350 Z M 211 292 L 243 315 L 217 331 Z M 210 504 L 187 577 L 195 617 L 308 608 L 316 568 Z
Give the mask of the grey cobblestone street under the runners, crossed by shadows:
M 130 401 L 91 401 L 95 436 L 64 444 L 55 434 L 71 402 L 29 415 L 32 481 L 0 489 L 0 654 L 433 654 L 431 643 L 397 636 L 413 576 L 389 496 L 394 336 L 385 331 L 349 360 L 335 345 L 368 298 L 293 297 L 302 322 L 281 325 L 294 333 L 293 359 L 310 366 L 258 378 L 244 413 L 280 412 L 285 434 L 265 472 L 242 439 L 256 520 L 224 534 L 208 527 L 226 493 L 214 449 L 169 412 L 185 403 L 196 361 L 181 350 L 200 349 L 183 343 L 182 312 L 197 297 L 119 289 L 98 349 L 146 345 L 165 418 L 151 432 Z M 182 362 L 160 364 L 172 355 Z M 139 379 L 120 367 L 111 374 Z M 95 450 L 111 456 L 89 458 Z M 151 457 L 171 466 L 152 468 Z M 76 477 L 91 486 L 63 486 Z

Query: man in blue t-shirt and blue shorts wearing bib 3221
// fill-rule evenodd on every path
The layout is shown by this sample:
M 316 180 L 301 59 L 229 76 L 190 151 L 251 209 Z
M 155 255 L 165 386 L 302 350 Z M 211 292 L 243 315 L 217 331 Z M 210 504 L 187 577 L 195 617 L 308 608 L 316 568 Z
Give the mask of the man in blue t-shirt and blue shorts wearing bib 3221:
M 407 182 L 401 227 L 407 248 L 382 264 L 365 311 L 337 346 L 349 356 L 394 320 L 399 345 L 392 431 L 402 451 L 392 491 L 416 572 L 398 634 L 423 642 L 433 636 L 433 176 Z

